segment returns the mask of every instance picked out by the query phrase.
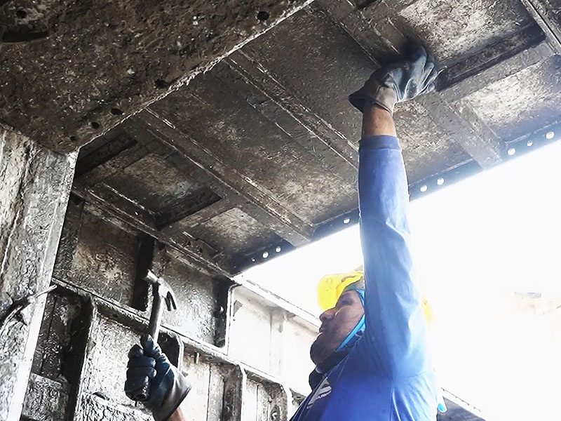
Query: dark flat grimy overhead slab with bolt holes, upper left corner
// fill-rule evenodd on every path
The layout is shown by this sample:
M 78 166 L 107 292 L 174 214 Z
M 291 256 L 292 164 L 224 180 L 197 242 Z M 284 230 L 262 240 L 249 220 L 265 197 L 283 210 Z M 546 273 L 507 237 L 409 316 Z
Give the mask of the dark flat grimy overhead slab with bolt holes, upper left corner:
M 78 149 L 305 5 L 1 1 L 0 119 Z

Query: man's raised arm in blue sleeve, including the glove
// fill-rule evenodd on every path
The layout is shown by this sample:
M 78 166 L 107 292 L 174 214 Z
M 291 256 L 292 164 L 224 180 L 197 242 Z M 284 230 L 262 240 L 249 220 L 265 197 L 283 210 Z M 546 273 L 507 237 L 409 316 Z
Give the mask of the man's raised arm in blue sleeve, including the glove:
M 393 107 L 430 91 L 438 76 L 423 48 L 374 72 L 351 103 L 363 111 L 358 194 L 366 281 L 365 349 L 376 368 L 417 375 L 426 361 L 424 316 L 412 282 L 407 176 Z

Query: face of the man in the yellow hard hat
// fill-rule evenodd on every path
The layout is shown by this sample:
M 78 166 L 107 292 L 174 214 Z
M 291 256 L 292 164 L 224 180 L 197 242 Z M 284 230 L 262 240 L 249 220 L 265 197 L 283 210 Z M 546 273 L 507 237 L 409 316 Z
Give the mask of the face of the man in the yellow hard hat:
M 320 333 L 310 348 L 311 361 L 318 365 L 339 347 L 364 314 L 363 303 L 355 290 L 342 293 L 332 309 L 320 316 Z

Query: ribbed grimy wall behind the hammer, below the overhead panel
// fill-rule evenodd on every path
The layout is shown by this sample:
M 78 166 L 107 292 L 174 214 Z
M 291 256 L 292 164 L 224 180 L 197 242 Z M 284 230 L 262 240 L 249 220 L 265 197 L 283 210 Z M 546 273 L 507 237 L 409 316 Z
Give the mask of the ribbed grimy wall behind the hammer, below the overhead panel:
M 22 419 L 149 419 L 123 392 L 128 349 L 149 316 L 137 279 L 148 260 L 177 295 L 161 345 L 194 385 L 189 419 L 288 419 L 308 391 L 313 318 L 147 243 L 71 196 Z

